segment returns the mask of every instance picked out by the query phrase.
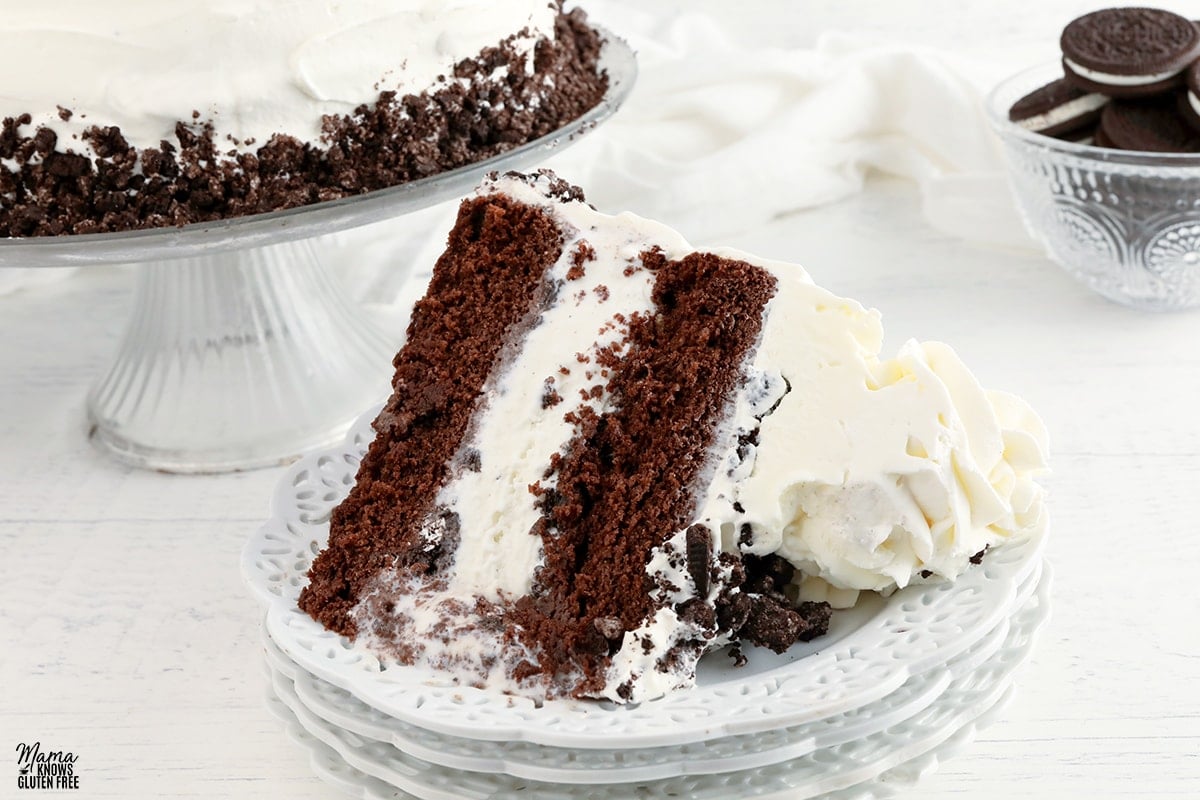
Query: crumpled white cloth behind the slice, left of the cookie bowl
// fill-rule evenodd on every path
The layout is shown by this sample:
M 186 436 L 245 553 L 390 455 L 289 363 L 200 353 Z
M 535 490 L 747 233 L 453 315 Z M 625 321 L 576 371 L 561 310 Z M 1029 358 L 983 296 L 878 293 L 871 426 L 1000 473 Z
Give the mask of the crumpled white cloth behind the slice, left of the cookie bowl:
M 940 230 L 1027 241 L 983 112 L 1003 67 L 845 34 L 752 49 L 704 14 L 647 22 L 628 35 L 641 68 L 628 104 L 554 160 L 598 207 L 714 243 L 880 172 L 914 180 Z

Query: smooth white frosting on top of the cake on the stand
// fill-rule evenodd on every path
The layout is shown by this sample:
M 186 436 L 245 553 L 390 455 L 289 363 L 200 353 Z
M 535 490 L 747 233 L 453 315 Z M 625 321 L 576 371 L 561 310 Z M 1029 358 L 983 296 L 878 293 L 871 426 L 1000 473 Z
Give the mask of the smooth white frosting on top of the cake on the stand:
M 88 151 L 77 138 L 92 125 L 156 148 L 193 112 L 214 122 L 218 146 L 226 137 L 262 145 L 277 132 L 316 140 L 323 115 L 383 90 L 421 92 L 522 31 L 516 44 L 529 49 L 553 37 L 554 17 L 546 0 L 8 4 L 0 113 L 31 114 L 59 132 L 59 149 L 77 152 Z M 59 107 L 74 113 L 70 121 Z

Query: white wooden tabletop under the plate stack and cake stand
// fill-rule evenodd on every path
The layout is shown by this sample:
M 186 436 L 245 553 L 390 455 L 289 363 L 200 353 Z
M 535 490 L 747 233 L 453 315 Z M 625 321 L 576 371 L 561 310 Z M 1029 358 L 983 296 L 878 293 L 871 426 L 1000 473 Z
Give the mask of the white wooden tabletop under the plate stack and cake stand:
M 997 36 L 1030 41 L 1009 25 Z M 1051 621 L 1003 720 L 910 794 L 1200 798 L 1200 312 L 1110 305 L 1040 255 L 932 231 L 917 205 L 875 180 L 730 242 L 880 307 L 888 348 L 950 342 L 1051 432 Z M 79 757 L 65 796 L 336 798 L 264 706 L 239 575 L 280 470 L 136 471 L 86 441 L 131 278 L 0 297 L 0 796 L 38 796 L 13 751 L 40 741 Z

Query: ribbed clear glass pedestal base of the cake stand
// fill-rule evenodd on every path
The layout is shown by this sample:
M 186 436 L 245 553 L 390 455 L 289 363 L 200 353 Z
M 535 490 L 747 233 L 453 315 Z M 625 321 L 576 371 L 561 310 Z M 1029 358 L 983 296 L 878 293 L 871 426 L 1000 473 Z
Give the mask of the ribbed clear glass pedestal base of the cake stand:
M 269 467 L 336 443 L 386 396 L 396 343 L 313 239 L 138 267 L 134 311 L 88 398 L 91 439 L 136 467 Z

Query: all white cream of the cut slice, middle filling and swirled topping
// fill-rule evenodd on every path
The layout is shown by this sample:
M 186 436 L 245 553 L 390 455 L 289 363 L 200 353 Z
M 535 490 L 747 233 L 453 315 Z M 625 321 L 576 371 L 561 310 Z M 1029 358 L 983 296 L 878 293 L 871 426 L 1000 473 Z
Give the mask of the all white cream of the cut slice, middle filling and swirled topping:
M 584 405 L 602 413 L 614 402 L 594 356 L 619 342 L 618 314 L 653 311 L 653 273 L 638 255 L 653 247 L 671 260 L 695 252 L 659 223 L 552 199 L 547 180 L 499 178 L 480 190 L 544 207 L 565 246 L 548 273 L 554 301 L 488 381 L 456 459 L 472 452 L 479 469 L 458 468 L 438 495 L 438 512 L 460 521 L 452 577 L 424 596 L 397 595 L 396 576 L 379 578 L 382 596 L 430 630 L 438 630 L 430 609 L 458 602 L 460 613 L 464 599 L 505 602 L 529 591 L 542 559 L 530 486 L 553 481 L 551 458 L 575 434 L 564 415 Z M 568 279 L 583 243 L 594 259 Z M 1033 477 L 1045 469 L 1046 434 L 1024 402 L 984 391 L 944 344 L 908 342 L 882 359 L 878 312 L 815 285 L 799 266 L 713 252 L 778 279 L 697 491 L 692 521 L 708 525 L 714 555 L 778 553 L 808 576 L 803 595 L 848 604 L 859 590 L 953 579 L 985 548 L 1044 523 Z M 544 402 L 547 378 L 562 399 L 553 405 Z M 757 444 L 746 445 L 754 432 Z M 686 567 L 691 524 L 666 531 L 649 555 L 647 575 L 665 607 L 625 632 L 606 675 L 610 699 L 646 700 L 694 681 L 696 655 L 676 648 L 702 632 L 671 608 L 696 596 Z M 715 602 L 724 583 L 713 581 L 704 600 Z M 360 602 L 360 630 L 380 621 L 368 608 Z M 432 648 L 425 662 L 520 691 L 497 675 L 494 654 L 508 646 L 502 633 L 478 631 L 470 636 L 482 643 L 469 645 L 434 636 L 422 645 Z

